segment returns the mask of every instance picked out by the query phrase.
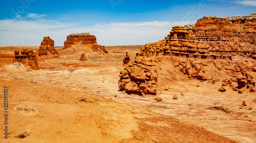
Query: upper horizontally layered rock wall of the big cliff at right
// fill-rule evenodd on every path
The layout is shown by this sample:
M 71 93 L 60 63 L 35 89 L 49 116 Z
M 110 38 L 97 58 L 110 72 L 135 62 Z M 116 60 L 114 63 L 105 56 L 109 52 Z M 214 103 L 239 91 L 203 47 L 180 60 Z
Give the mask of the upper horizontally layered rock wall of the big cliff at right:
M 163 48 L 163 54 L 177 56 L 217 59 L 239 55 L 256 59 L 255 13 L 243 17 L 205 16 L 192 26 L 174 26 L 164 42 L 157 42 L 164 45 L 142 49 L 140 55 L 156 56 L 154 53 Z

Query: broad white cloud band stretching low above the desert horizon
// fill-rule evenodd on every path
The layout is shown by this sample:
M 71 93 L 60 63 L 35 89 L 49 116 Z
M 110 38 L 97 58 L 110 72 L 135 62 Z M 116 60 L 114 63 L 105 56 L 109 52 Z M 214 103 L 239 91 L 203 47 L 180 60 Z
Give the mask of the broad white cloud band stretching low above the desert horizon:
M 84 26 L 79 23 L 62 23 L 51 20 L 0 20 L 0 46 L 39 46 L 45 36 L 55 41 L 55 46 L 63 46 L 67 35 L 90 32 L 101 45 L 138 45 L 164 39 L 175 25 L 185 25 L 196 21 L 147 21 L 111 22 Z

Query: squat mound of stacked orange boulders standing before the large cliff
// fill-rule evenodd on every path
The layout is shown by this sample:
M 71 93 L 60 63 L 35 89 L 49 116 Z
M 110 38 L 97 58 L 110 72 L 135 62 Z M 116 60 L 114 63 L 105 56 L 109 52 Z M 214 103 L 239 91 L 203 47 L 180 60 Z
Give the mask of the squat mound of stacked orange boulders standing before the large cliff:
M 157 92 L 159 61 L 157 57 L 136 56 L 120 71 L 119 89 L 126 93 L 153 94 Z

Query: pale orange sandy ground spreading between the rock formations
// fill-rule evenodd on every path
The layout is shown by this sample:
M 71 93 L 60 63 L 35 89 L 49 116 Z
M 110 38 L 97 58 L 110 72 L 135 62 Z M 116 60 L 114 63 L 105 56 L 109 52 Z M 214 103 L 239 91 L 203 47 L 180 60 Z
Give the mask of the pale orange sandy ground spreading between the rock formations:
M 220 134 L 238 142 L 256 142 L 255 94 L 237 94 L 231 90 L 220 93 L 218 88 L 221 82 L 211 84 L 188 80 L 175 70 L 168 72 L 168 69 L 163 68 L 160 74 L 173 78 L 159 79 L 161 83 L 166 83 L 158 85 L 160 90 L 157 96 L 163 98 L 162 102 L 154 100 L 155 96 L 127 95 L 118 91 L 118 75 L 124 68 L 122 59 L 125 51 L 129 51 L 133 60 L 140 46 L 109 46 L 106 49 L 109 54 L 87 54 L 88 61 L 84 62 L 78 60 L 80 53 L 59 50 L 58 59 L 38 58 L 39 71 L 2 70 L 1 87 L 8 84 L 13 88 L 9 109 L 15 117 L 10 116 L 10 130 L 13 131 L 10 140 L 229 141 L 217 135 Z M 12 63 L 11 56 L 14 55 L 11 51 L 14 49 L 0 50 L 1 64 Z M 173 99 L 174 94 L 178 100 Z M 88 102 L 78 101 L 83 98 Z M 252 107 L 251 110 L 239 109 L 243 100 L 247 108 Z M 17 105 L 30 105 L 37 111 L 15 111 L 13 107 Z M 228 108 L 228 111 L 210 109 L 214 106 Z M 184 125 L 181 127 L 180 124 Z M 31 135 L 23 139 L 13 137 L 27 130 L 30 130 Z M 197 133 L 198 130 L 206 133 Z

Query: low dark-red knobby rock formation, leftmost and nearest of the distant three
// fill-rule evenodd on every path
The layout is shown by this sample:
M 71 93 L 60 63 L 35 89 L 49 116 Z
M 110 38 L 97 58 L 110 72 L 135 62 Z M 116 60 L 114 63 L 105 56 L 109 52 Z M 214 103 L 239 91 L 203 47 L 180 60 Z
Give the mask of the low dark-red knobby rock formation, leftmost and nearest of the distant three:
M 25 67 L 32 70 L 38 70 L 36 56 L 33 50 L 23 49 L 21 51 L 15 50 L 15 58 L 13 63 L 22 63 Z

